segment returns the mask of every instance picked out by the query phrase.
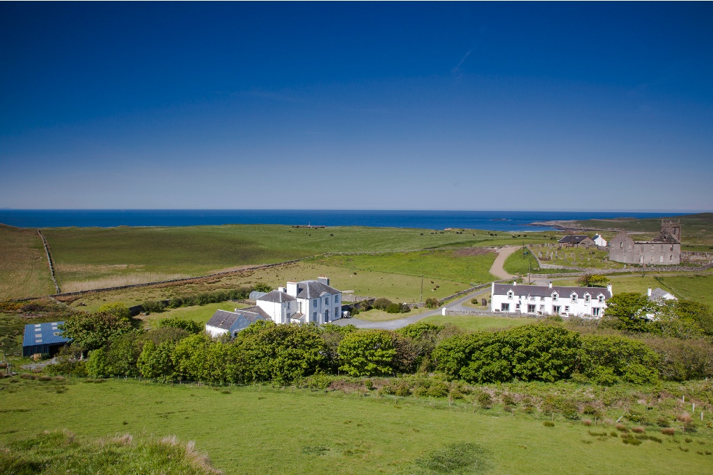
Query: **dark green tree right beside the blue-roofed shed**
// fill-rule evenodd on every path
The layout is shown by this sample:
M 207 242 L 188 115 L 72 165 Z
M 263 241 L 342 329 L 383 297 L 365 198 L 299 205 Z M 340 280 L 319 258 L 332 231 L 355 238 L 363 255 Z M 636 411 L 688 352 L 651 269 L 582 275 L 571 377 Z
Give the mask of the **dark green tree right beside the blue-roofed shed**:
M 118 335 L 134 330 L 135 321 L 114 313 L 75 313 L 60 325 L 63 337 L 83 351 L 98 350 Z

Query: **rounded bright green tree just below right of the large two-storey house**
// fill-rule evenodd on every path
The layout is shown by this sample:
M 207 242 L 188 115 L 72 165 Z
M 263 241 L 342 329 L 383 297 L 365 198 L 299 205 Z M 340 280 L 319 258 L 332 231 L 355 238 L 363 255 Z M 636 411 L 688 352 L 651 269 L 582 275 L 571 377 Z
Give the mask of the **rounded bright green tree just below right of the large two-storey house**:
M 389 375 L 396 356 L 394 336 L 386 330 L 349 333 L 339 343 L 339 360 L 351 376 Z

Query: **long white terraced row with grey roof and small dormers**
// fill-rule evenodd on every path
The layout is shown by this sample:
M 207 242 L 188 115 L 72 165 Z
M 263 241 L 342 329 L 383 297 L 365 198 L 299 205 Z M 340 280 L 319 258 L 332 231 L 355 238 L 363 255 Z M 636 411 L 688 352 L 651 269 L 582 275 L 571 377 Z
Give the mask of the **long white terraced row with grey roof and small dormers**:
M 491 288 L 493 312 L 527 313 L 530 315 L 577 315 L 600 318 L 607 308 L 612 286 L 560 287 L 518 286 L 518 283 L 495 283 Z

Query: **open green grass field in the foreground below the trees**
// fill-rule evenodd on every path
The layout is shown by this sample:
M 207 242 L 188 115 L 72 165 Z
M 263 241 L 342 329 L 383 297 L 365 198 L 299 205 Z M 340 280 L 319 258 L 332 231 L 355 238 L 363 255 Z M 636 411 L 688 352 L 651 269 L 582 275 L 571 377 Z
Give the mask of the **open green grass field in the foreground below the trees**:
M 553 428 L 525 414 L 473 412 L 456 402 L 355 397 L 339 393 L 171 387 L 112 380 L 77 382 L 58 394 L 50 383 L 21 381 L 0 391 L 0 442 L 66 428 L 85 437 L 131 432 L 195 440 L 225 474 L 396 474 L 405 464 L 455 442 L 489 451 L 491 474 L 670 474 L 709 471 L 711 441 L 682 444 L 597 440 L 578 422 Z M 217 388 L 216 388 L 217 389 Z M 14 392 L 10 392 L 14 391 Z M 657 434 L 657 432 L 654 432 Z M 322 449 L 323 448 L 323 449 Z M 321 455 L 320 455 L 321 454 Z

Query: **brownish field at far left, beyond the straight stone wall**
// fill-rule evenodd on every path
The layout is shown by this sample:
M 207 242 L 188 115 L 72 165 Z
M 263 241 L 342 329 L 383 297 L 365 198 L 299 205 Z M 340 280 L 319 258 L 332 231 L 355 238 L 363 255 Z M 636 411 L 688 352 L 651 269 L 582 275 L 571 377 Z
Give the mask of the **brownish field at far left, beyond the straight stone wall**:
M 54 292 L 37 231 L 0 224 L 0 300 Z

